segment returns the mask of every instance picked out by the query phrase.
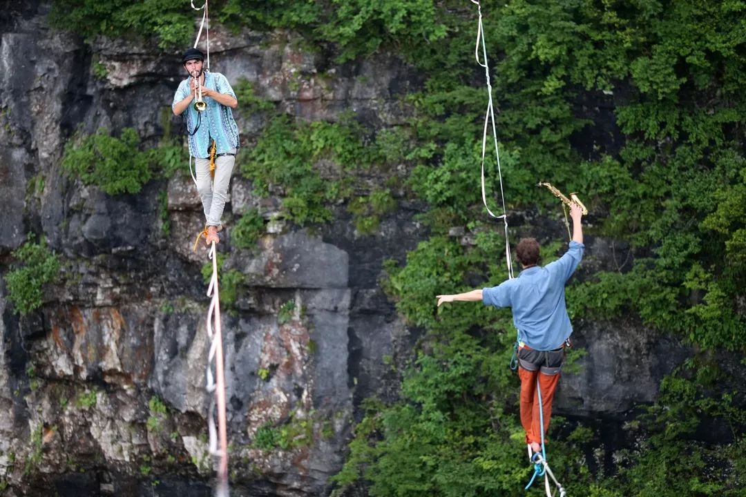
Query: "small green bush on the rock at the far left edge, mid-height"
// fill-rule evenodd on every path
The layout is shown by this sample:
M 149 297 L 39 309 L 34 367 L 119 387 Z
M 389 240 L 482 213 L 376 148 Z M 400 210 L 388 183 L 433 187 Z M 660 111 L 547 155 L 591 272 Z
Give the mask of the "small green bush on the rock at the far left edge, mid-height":
M 13 252 L 13 257 L 22 266 L 5 275 L 7 298 L 16 312 L 28 314 L 44 303 L 43 287 L 57 279 L 60 261 L 48 249 L 46 240 L 36 243 L 33 236 Z

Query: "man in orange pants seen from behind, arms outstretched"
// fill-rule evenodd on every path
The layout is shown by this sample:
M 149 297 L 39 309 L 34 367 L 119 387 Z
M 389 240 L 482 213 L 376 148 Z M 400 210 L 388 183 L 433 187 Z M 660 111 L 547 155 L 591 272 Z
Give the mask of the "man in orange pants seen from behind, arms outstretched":
M 521 424 L 526 443 L 533 453 L 541 452 L 543 414 L 546 432 L 552 412 L 552 400 L 565 359 L 572 326 L 565 306 L 565 282 L 583 258 L 583 208 L 570 205 L 572 240 L 567 253 L 555 262 L 539 266 L 539 244 L 534 238 L 518 242 L 515 255 L 523 270 L 518 278 L 508 279 L 493 288 L 472 290 L 463 294 L 438 295 L 438 306 L 444 302 L 478 302 L 487 306 L 510 307 L 518 329 L 518 376 L 521 378 Z M 539 405 L 536 383 L 542 402 Z M 542 409 L 540 413 L 539 409 Z

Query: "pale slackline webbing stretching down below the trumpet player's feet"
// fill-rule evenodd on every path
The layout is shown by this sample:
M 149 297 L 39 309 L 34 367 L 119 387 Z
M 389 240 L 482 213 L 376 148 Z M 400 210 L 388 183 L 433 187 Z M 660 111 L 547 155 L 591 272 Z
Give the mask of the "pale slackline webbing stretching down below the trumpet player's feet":
M 214 241 L 212 247 L 210 247 L 209 256 L 213 261 L 213 276 L 210 277 L 210 286 L 207 288 L 207 297 L 211 297 L 210 306 L 207 308 L 207 337 L 210 338 L 210 352 L 207 355 L 207 382 L 205 387 L 208 393 L 214 392 L 215 396 L 210 402 L 207 413 L 207 430 L 210 433 L 210 454 L 220 458 L 216 496 L 228 497 L 228 429 L 225 414 L 225 374 L 223 371 L 223 340 L 220 325 L 218 254 Z M 215 364 L 214 375 L 213 362 Z M 215 425 L 216 408 L 218 411 L 217 428 Z M 218 445 L 220 448 L 218 448 Z

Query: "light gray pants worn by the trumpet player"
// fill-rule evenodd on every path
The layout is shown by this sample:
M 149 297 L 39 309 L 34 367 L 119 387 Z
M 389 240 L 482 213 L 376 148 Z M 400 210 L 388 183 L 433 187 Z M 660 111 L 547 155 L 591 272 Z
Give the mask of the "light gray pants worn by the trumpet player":
M 236 153 L 233 148 L 230 153 Z M 236 156 L 223 155 L 215 158 L 215 177 L 210 177 L 210 159 L 195 158 L 197 193 L 202 199 L 204 218 L 207 226 L 220 226 L 220 218 L 228 201 L 228 186 L 231 184 L 231 173 Z

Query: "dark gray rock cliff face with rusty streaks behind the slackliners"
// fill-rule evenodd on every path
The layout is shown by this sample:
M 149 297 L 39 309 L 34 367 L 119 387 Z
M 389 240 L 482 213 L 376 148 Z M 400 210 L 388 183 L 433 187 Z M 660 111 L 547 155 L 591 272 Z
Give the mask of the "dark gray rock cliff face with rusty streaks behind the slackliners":
M 25 317 L 0 288 L 0 482 L 13 496 L 207 496 L 207 252 L 192 251 L 202 214 L 191 180 L 109 196 L 60 173 L 78 128 L 134 127 L 156 142 L 178 127 L 163 118 L 183 77 L 178 54 L 84 44 L 49 29 L 48 8 L 30 1 L 0 18 L 0 271 L 29 232 L 43 233 L 64 262 L 43 308 Z M 401 95 L 421 84 L 394 56 L 333 66 L 289 34 L 211 36 L 213 68 L 231 82 L 248 78 L 298 118 L 334 121 L 353 110 L 369 127 L 400 124 Z M 246 144 L 261 124 L 240 119 Z M 226 217 L 257 202 L 236 176 Z M 406 355 L 416 330 L 377 278 L 384 259 L 403 260 L 424 236 L 416 212 L 402 201 L 363 237 L 340 208 L 315 230 L 277 226 L 253 251 L 231 247 L 228 226 L 224 268 L 247 282 L 223 320 L 233 495 L 327 495 L 357 403 L 395 395 L 383 358 Z M 612 267 L 611 241 L 587 245 L 586 273 Z M 562 382 L 560 414 L 622 418 L 651 402 L 686 355 L 634 323 L 577 323 L 575 336 L 589 354 Z

